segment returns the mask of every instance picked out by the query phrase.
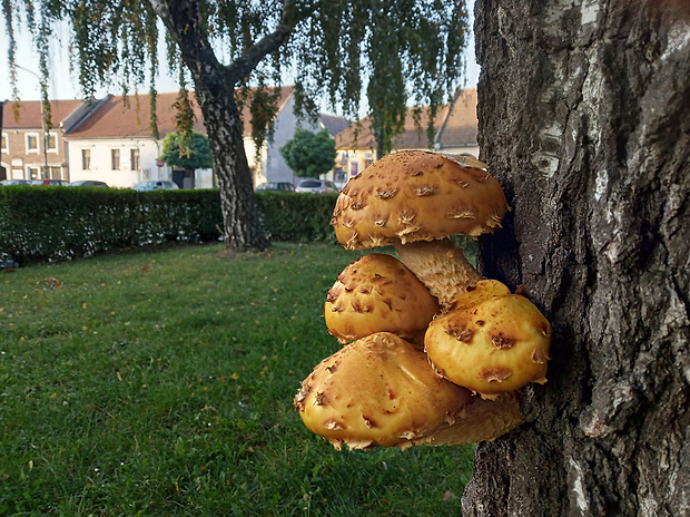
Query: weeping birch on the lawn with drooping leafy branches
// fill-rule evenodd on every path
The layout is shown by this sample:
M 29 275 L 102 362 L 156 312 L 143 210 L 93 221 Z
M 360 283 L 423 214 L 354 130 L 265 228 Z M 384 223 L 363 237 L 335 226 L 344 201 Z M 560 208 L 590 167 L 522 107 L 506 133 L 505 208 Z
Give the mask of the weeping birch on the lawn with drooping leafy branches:
M 342 105 L 345 116 L 356 118 L 364 81 L 379 74 L 386 79 L 369 81 L 369 98 L 385 98 L 394 89 L 395 103 L 411 97 L 436 106 L 460 79 L 467 18 L 464 0 L 4 0 L 2 6 L 10 82 L 16 81 L 13 27 L 21 14 L 34 35 L 45 76 L 51 27 L 68 20 L 85 96 L 111 77 L 136 89 L 146 80 L 146 62 L 149 78 L 155 78 L 157 21 L 162 22 L 169 55 L 186 70 L 180 77 L 191 78 L 204 115 L 220 184 L 225 241 L 235 251 L 268 244 L 254 202 L 241 105 L 250 104 L 260 144 L 277 109 L 278 96 L 266 85 L 279 84 L 284 69 L 294 65 L 298 108 L 312 115 L 312 99 L 324 92 L 333 105 Z M 386 20 L 388 30 L 381 30 Z M 151 79 L 155 92 L 152 85 Z M 258 91 L 247 96 L 248 86 Z M 373 115 L 390 114 L 386 106 Z M 395 118 L 386 115 L 385 120 Z

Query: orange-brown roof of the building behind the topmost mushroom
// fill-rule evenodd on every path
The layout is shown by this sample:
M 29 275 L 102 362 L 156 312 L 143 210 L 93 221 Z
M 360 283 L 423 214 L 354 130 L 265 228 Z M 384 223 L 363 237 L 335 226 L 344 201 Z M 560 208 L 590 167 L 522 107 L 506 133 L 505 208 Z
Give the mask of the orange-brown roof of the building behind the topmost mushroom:
M 418 124 L 414 119 L 415 109 L 418 109 Z M 403 133 L 393 138 L 393 147 L 396 149 L 428 147 L 426 135 L 428 116 L 428 107 L 407 108 Z M 438 107 L 434 119 L 434 144 L 438 144 L 441 148 L 476 145 L 476 88 L 459 90 L 450 104 Z M 338 149 L 375 149 L 376 140 L 372 133 L 371 117 L 353 124 L 336 135 L 335 146 Z

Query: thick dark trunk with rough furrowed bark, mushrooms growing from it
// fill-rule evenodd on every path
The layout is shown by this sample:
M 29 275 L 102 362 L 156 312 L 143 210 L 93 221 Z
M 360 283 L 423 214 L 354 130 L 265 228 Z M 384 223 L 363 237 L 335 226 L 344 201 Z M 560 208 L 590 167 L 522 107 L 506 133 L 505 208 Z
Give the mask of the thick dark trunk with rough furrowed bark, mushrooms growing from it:
M 690 515 L 686 6 L 476 1 L 482 159 L 513 208 L 481 266 L 554 335 L 465 517 Z

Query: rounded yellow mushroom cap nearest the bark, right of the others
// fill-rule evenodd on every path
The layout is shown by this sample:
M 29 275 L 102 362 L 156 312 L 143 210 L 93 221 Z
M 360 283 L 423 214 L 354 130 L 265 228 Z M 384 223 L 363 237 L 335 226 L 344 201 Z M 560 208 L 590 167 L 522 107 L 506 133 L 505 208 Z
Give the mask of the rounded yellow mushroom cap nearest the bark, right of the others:
M 526 297 L 485 280 L 457 297 L 424 336 L 432 365 L 482 396 L 546 382 L 551 325 Z

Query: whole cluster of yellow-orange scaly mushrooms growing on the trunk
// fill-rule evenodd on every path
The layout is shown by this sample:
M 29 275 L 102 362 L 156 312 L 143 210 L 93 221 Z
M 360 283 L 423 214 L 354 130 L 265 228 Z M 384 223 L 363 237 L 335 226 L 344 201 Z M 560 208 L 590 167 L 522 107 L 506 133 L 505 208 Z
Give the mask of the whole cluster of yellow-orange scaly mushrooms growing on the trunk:
M 523 421 L 518 389 L 545 382 L 551 325 L 484 280 L 448 238 L 500 227 L 503 189 L 475 159 L 388 155 L 352 178 L 332 223 L 348 265 L 325 301 L 344 347 L 304 380 L 295 408 L 337 449 L 493 440 Z

